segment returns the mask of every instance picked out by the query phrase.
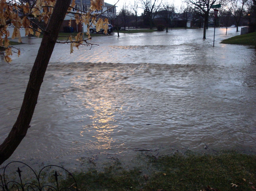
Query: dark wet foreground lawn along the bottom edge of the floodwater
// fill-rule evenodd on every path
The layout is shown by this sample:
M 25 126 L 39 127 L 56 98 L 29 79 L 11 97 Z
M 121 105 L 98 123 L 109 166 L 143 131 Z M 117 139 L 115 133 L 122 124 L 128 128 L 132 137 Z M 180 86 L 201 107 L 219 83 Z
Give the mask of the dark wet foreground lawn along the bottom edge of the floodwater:
M 118 161 L 101 171 L 92 167 L 76 172 L 82 191 L 254 191 L 256 155 L 223 152 L 217 155 L 186 153 L 171 156 L 140 155 L 132 169 Z M 66 186 L 70 180 L 62 182 Z

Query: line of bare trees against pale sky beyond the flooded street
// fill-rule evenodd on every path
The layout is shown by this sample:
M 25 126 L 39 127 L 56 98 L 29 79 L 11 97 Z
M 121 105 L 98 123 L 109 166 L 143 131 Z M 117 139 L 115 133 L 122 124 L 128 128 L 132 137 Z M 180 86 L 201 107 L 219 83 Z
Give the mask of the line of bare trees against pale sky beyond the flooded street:
M 123 4 L 117 14 L 118 26 L 126 30 L 134 28 L 153 28 L 159 23 L 166 27 L 185 27 L 193 23 L 193 27 L 203 28 L 203 38 L 206 29 L 214 21 L 212 6 L 221 4 L 218 8 L 217 26 L 229 28 L 231 25 L 247 26 L 255 30 L 256 0 L 185 0 L 180 7 L 163 0 L 134 0 L 134 3 Z M 140 11 L 139 11 L 140 10 Z M 138 15 L 138 12 L 142 12 Z

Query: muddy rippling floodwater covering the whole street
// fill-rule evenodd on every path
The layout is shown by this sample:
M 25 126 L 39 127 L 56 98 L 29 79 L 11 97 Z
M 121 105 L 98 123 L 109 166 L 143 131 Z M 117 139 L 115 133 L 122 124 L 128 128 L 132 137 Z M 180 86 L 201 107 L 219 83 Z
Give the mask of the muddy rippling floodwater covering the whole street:
M 57 44 L 31 128 L 8 160 L 65 163 L 168 154 L 256 152 L 256 52 L 220 44 L 235 28 L 93 37 L 90 47 Z M 11 66 L 0 60 L 0 140 L 17 118 L 40 39 Z M 207 149 L 205 147 L 207 145 Z

